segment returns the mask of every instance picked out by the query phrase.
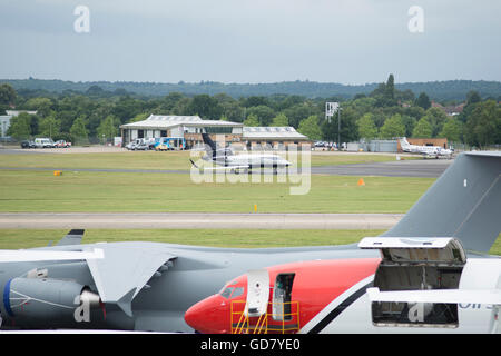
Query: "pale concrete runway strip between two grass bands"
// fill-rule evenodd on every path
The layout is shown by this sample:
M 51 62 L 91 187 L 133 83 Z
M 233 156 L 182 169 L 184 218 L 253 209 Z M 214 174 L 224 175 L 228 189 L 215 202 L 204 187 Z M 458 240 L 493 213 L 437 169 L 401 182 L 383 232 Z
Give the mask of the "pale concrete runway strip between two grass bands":
M 2 212 L 2 229 L 389 229 L 403 214 Z

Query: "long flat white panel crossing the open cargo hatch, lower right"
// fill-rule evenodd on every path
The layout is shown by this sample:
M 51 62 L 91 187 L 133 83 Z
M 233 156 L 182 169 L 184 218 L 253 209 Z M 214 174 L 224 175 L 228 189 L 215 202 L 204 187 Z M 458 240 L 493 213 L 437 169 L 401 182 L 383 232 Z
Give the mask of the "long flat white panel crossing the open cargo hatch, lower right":
M 501 289 L 433 289 L 380 291 L 380 288 L 367 288 L 371 301 L 394 303 L 474 303 L 501 305 Z

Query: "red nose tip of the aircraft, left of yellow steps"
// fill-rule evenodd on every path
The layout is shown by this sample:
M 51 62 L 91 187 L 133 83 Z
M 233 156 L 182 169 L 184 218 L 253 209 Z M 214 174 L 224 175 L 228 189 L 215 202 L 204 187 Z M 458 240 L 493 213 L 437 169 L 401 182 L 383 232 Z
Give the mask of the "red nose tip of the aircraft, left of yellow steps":
M 229 327 L 228 300 L 214 295 L 198 301 L 186 310 L 185 322 L 203 334 L 226 334 Z

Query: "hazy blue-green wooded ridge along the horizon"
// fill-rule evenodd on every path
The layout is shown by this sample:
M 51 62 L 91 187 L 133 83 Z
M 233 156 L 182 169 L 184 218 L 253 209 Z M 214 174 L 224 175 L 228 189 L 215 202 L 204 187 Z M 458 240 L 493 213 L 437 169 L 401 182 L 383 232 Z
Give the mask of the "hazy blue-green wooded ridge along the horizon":
M 232 98 L 252 96 L 273 96 L 284 93 L 289 96 L 305 96 L 307 98 L 327 98 L 336 95 L 340 98 L 351 99 L 357 93 L 369 95 L 379 83 L 342 85 L 336 82 L 316 82 L 310 80 L 295 80 L 269 83 L 223 83 L 217 81 L 199 81 L 177 83 L 166 82 L 134 82 L 134 81 L 65 81 L 48 79 L 0 79 L 0 83 L 10 83 L 18 92 L 21 90 L 52 92 L 85 92 L 91 87 L 99 87 L 107 93 L 135 92 L 140 96 L 163 97 L 169 92 L 180 92 L 186 96 L 226 93 Z M 426 92 L 434 100 L 463 100 L 471 90 L 479 92 L 482 98 L 493 97 L 500 100 L 501 82 L 485 80 L 445 80 L 429 82 L 397 83 L 396 89 L 412 90 L 415 93 Z

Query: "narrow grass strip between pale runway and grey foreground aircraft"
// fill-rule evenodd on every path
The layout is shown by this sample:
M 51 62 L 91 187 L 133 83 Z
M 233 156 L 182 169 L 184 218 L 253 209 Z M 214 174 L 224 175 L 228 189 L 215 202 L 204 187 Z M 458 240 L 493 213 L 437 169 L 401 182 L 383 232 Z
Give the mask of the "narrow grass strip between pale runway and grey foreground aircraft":
M 88 229 L 82 244 L 99 241 L 156 241 L 215 247 L 294 247 L 345 245 L 384 230 L 256 230 L 256 229 Z M 0 229 L 0 249 L 47 246 L 59 241 L 65 229 Z M 501 255 L 501 238 L 490 254 Z

